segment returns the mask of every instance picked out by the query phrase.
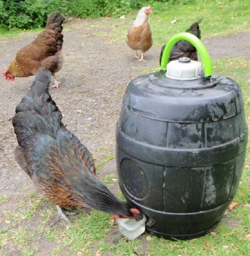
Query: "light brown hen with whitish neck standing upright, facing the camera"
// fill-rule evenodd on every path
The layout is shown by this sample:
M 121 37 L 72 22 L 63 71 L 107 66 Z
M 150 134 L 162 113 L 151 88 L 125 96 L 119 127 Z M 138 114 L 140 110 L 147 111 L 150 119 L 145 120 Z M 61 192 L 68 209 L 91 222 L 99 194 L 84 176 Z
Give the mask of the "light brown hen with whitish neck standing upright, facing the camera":
M 147 52 L 153 44 L 152 33 L 149 25 L 148 15 L 153 10 L 150 6 L 142 7 L 136 16 L 136 19 L 128 30 L 126 43 L 135 51 L 133 58 L 143 60 L 143 53 Z M 137 51 L 141 51 L 141 58 L 139 58 Z

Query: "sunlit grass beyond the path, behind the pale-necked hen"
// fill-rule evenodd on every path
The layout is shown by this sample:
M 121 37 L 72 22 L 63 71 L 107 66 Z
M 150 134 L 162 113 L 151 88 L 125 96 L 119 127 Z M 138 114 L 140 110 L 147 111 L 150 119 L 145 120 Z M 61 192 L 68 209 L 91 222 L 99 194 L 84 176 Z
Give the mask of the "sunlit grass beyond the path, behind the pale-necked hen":
M 250 30 L 250 3 L 248 0 L 196 0 L 192 4 L 181 5 L 169 2 L 153 2 L 153 13 L 150 14 L 150 27 L 153 44 L 162 46 L 174 34 L 185 32 L 192 23 L 203 18 L 200 25 L 201 36 L 225 36 Z M 125 19 L 110 21 L 111 32 L 99 31 L 97 34 L 107 36 L 110 42 L 124 42 L 128 28 L 134 21 L 137 11 L 133 11 Z M 176 20 L 175 23 L 171 21 Z M 107 21 L 95 21 L 101 26 Z

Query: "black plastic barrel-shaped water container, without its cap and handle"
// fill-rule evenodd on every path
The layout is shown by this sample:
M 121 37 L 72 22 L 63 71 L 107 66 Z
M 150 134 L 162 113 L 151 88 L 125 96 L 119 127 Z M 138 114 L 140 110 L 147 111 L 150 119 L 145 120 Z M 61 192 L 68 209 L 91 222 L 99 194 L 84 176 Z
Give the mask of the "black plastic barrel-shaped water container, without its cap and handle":
M 116 129 L 120 188 L 146 230 L 190 239 L 218 223 L 237 192 L 247 145 L 244 102 L 225 76 L 132 80 Z

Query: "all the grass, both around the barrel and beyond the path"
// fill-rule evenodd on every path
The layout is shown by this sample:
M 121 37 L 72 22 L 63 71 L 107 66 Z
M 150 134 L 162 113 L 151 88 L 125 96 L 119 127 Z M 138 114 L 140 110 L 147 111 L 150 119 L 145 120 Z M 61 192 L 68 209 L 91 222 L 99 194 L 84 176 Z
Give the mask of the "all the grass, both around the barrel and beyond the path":
M 190 5 L 174 5 L 168 3 L 153 3 L 154 13 L 150 15 L 154 43 L 161 45 L 173 34 L 185 31 L 194 21 L 203 17 L 201 25 L 202 36 L 213 37 L 235 32 L 248 31 L 249 28 L 249 1 L 196 1 Z M 190 17 L 192 14 L 192 17 Z M 124 41 L 124 34 L 128 25 L 134 20 L 136 12 L 125 20 L 109 20 L 112 42 Z M 187 18 L 188 17 L 188 18 Z M 171 21 L 177 18 L 177 22 Z M 188 20 L 188 22 L 187 22 Z M 105 25 L 107 21 L 86 21 L 86 24 Z M 115 25 L 118 26 L 115 27 Z M 36 31 L 30 31 L 30 33 Z M 26 32 L 25 32 L 26 33 Z M 22 33 L 24 34 L 24 33 Z M 100 36 L 107 36 L 106 32 L 98 32 Z M 3 34 L 3 37 L 14 37 L 16 32 Z M 1 37 L 2 37 L 1 36 Z M 212 60 L 216 73 L 225 74 L 236 80 L 242 88 L 245 101 L 245 116 L 250 126 L 250 60 L 247 57 L 228 57 L 223 60 Z M 153 68 L 144 72 L 158 71 Z M 138 70 L 140 70 L 138 68 Z M 97 134 L 94 131 L 93 134 Z M 112 239 L 112 217 L 98 211 L 90 214 L 83 213 L 72 218 L 72 224 L 59 222 L 54 227 L 48 227 L 48 219 L 56 216 L 55 207 L 38 193 L 27 193 L 21 201 L 15 201 L 14 210 L 1 211 L 0 214 L 0 256 L 7 256 L 4 248 L 8 246 L 17 248 L 18 255 L 42 255 L 42 248 L 37 246 L 36 240 L 44 239 L 46 244 L 53 244 L 50 256 L 69 255 L 101 255 L 108 252 L 112 256 L 245 256 L 250 251 L 250 143 L 247 147 L 245 169 L 239 184 L 234 201 L 240 202 L 230 213 L 227 213 L 215 230 L 198 239 L 188 241 L 169 241 L 158 239 L 155 236 L 144 234 L 140 238 L 128 241 L 123 236 Z M 98 172 L 104 164 L 112 161 L 115 156 L 110 153 L 110 147 L 100 147 L 93 152 L 96 156 Z M 103 178 L 107 186 L 117 179 L 115 174 Z M 119 193 L 119 197 L 122 194 Z M 0 196 L 0 207 L 4 206 L 10 198 Z M 38 220 L 38 222 L 37 222 Z M 35 222 L 37 229 L 29 227 L 29 222 Z M 42 245 L 41 245 L 42 246 Z

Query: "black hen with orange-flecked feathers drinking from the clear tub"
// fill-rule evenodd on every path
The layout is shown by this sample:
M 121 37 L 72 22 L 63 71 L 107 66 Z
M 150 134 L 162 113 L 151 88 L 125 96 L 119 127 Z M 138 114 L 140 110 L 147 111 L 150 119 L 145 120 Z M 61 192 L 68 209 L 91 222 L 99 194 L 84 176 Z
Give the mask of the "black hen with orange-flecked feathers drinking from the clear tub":
M 118 200 L 95 176 L 88 149 L 62 123 L 61 111 L 48 92 L 51 73 L 39 68 L 28 94 L 16 107 L 13 126 L 19 146 L 15 158 L 38 190 L 61 207 L 91 207 L 115 218 L 134 218 L 139 210 Z

